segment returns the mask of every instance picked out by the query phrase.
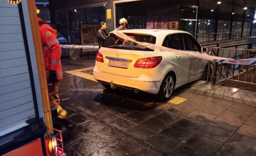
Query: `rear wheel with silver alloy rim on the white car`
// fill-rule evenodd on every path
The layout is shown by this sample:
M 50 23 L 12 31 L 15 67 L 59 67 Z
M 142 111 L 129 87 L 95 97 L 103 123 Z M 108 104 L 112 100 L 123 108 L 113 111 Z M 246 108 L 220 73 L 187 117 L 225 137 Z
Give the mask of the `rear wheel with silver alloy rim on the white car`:
M 161 101 L 167 101 L 171 99 L 172 93 L 174 91 L 175 82 L 176 80 L 174 74 L 168 73 L 165 76 L 158 92 L 158 98 Z

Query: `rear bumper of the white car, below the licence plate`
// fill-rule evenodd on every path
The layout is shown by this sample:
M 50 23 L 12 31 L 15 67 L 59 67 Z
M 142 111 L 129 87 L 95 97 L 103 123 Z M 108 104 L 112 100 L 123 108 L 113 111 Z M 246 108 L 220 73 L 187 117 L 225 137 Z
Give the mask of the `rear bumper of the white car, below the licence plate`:
M 165 77 L 165 75 L 160 72 L 156 73 L 156 75 L 157 80 L 151 80 L 147 75 L 141 75 L 138 78 L 130 78 L 102 72 L 96 66 L 93 69 L 93 77 L 100 83 L 111 84 L 112 82 L 116 87 L 130 90 L 137 89 L 150 94 L 158 93 L 161 82 Z

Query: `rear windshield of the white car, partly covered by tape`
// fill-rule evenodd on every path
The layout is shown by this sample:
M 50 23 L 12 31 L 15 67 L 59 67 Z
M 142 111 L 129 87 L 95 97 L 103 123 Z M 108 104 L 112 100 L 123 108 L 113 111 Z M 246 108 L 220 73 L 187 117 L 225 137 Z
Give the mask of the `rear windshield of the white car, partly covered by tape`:
M 153 37 L 153 36 L 136 35 L 136 34 L 126 34 L 126 35 L 139 42 L 147 42 L 147 43 L 153 43 L 153 44 L 156 43 L 156 37 Z M 102 46 L 106 48 L 125 49 L 125 50 L 154 51 L 146 47 L 141 47 L 139 44 L 135 42 L 121 39 L 117 37 L 115 34 L 110 34 L 109 37 L 104 41 Z

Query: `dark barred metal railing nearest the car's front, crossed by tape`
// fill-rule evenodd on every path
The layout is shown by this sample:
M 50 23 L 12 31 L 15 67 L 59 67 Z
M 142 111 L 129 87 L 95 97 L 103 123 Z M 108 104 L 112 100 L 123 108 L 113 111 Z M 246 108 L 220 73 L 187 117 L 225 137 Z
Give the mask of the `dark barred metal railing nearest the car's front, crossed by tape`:
M 215 52 L 216 51 L 216 52 Z M 209 55 L 220 56 L 225 58 L 236 58 L 237 56 L 240 59 L 243 58 L 254 58 L 256 57 L 256 50 L 252 49 L 235 49 L 235 48 L 211 48 Z M 210 75 L 209 67 L 213 67 L 213 75 Z M 256 65 L 240 65 L 240 64 L 231 64 L 223 62 L 208 62 L 208 72 L 207 72 L 207 83 L 208 79 L 211 78 L 211 84 L 215 85 L 220 81 L 230 80 L 236 82 L 243 82 L 248 84 L 256 84 L 255 79 L 255 66 Z M 220 68 L 219 68 L 220 67 Z M 232 70 L 232 73 L 229 71 Z M 245 71 L 244 71 L 245 70 Z M 251 74 L 251 75 L 250 75 Z M 242 79 L 242 77 L 244 77 Z M 251 77 L 249 80 L 248 77 Z

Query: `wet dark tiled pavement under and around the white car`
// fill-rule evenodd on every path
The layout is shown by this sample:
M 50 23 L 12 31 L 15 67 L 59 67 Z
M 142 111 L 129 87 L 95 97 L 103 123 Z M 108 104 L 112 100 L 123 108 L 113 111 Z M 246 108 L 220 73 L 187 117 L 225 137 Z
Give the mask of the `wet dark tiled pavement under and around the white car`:
M 63 60 L 59 96 L 75 125 L 64 134 L 67 155 L 256 156 L 256 92 L 196 81 L 160 102 L 105 89 L 91 58 Z

